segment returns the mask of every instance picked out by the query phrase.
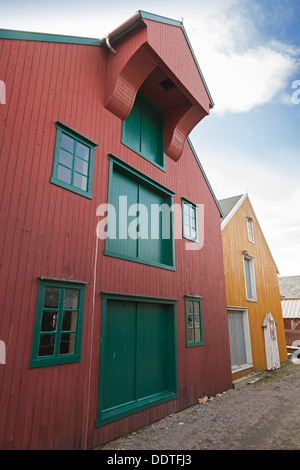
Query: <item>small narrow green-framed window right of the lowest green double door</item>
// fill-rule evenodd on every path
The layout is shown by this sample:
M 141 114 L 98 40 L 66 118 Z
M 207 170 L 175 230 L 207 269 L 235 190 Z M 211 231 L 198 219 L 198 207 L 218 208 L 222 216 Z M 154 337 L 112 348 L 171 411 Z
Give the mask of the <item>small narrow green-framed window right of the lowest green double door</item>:
M 202 300 L 195 297 L 185 297 L 186 314 L 186 344 L 187 347 L 202 346 Z

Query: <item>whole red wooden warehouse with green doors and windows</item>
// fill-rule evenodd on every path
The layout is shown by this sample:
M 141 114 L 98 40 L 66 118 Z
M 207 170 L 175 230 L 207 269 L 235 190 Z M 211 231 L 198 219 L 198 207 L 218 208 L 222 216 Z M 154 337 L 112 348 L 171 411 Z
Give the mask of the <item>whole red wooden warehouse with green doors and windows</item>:
M 181 22 L 0 38 L 0 447 L 92 449 L 232 387 L 213 101 Z

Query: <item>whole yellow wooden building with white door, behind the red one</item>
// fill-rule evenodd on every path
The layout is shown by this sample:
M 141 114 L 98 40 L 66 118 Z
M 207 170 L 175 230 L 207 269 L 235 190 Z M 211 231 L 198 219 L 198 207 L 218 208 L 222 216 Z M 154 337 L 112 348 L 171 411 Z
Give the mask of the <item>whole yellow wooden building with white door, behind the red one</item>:
M 219 201 L 233 380 L 286 362 L 278 269 L 248 194 Z

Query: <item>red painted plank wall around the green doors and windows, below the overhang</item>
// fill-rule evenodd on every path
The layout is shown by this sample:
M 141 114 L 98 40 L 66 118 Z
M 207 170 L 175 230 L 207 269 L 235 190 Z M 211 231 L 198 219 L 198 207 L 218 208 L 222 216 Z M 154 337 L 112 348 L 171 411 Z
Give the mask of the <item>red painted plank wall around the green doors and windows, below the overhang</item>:
M 166 172 L 121 144 L 100 47 L 0 40 L 0 54 L 0 448 L 93 448 L 230 388 L 220 214 L 189 144 Z M 99 144 L 92 200 L 50 183 L 58 120 Z M 107 201 L 108 153 L 175 191 L 174 202 L 204 204 L 204 246 L 175 240 L 176 272 L 104 256 L 96 209 Z M 79 363 L 29 369 L 38 276 L 89 283 Z M 95 429 L 101 291 L 179 300 L 179 398 Z M 184 295 L 204 297 L 203 347 L 186 348 Z

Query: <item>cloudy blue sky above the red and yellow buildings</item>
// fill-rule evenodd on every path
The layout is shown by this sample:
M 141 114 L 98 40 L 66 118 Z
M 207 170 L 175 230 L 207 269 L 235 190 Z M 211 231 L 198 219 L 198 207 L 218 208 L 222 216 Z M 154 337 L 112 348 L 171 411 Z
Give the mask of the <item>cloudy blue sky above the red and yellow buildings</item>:
M 212 188 L 248 192 L 280 275 L 300 275 L 299 0 L 0 0 L 0 28 L 101 38 L 137 10 L 183 18 L 215 102 L 190 136 Z

